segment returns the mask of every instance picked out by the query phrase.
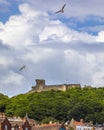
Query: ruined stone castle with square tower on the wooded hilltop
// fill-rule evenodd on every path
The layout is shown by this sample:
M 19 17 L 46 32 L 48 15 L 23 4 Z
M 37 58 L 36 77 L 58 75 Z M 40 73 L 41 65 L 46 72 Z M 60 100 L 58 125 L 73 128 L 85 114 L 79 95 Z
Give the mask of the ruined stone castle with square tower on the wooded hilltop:
M 45 80 L 36 79 L 36 86 L 32 86 L 32 89 L 29 92 L 42 92 L 50 90 L 66 91 L 70 88 L 81 88 L 81 85 L 80 84 L 46 85 Z

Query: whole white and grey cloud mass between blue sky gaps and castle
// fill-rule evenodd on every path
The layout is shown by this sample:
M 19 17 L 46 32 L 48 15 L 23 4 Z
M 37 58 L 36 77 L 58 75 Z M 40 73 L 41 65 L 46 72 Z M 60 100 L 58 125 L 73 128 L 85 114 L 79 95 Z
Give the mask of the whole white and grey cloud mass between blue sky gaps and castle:
M 0 22 L 0 92 L 25 93 L 36 78 L 46 84 L 103 86 L 104 31 L 93 35 L 71 29 L 44 8 L 20 4 L 19 15 Z M 26 68 L 20 72 L 22 65 Z

